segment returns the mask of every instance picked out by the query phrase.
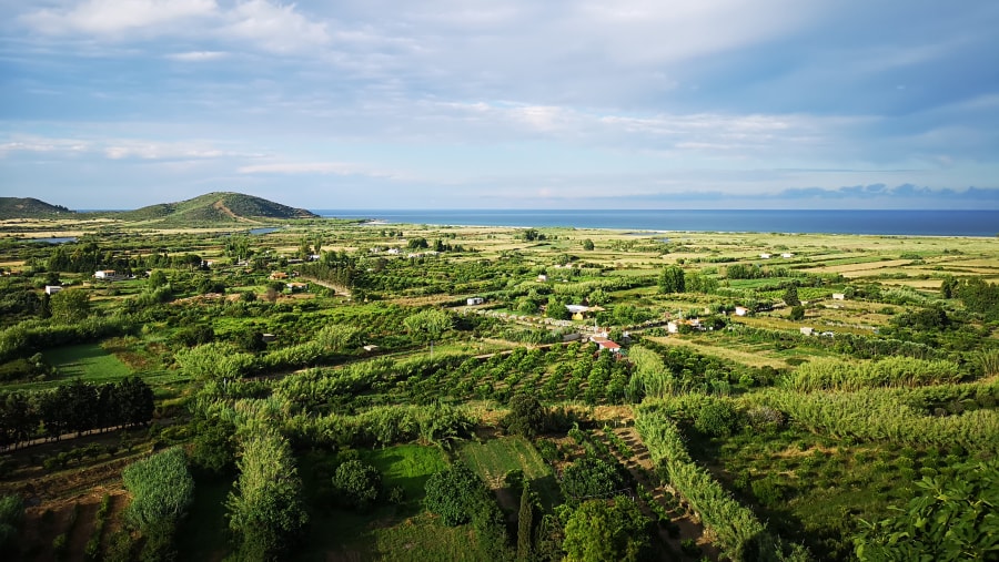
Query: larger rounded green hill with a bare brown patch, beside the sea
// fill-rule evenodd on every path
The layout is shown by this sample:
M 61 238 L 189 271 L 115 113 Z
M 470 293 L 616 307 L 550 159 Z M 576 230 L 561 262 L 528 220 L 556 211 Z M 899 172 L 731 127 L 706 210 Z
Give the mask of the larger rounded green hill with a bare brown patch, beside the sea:
M 124 221 L 176 223 L 253 223 L 259 219 L 312 218 L 317 215 L 253 195 L 213 192 L 178 203 L 160 203 L 115 217 Z

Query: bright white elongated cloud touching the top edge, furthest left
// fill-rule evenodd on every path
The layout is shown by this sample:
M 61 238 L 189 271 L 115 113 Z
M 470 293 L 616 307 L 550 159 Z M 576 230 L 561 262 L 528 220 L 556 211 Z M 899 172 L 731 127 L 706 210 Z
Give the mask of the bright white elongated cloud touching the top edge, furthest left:
M 50 34 L 120 34 L 127 31 L 162 30 L 180 20 L 215 13 L 214 0 L 87 0 L 69 9 L 43 9 L 22 20 Z

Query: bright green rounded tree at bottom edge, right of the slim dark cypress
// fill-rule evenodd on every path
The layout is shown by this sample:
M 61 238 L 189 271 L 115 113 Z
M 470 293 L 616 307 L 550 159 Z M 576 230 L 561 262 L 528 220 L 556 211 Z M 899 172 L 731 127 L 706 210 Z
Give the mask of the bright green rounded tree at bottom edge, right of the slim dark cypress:
M 565 524 L 565 560 L 571 562 L 637 561 L 648 556 L 648 520 L 628 498 L 589 500 Z

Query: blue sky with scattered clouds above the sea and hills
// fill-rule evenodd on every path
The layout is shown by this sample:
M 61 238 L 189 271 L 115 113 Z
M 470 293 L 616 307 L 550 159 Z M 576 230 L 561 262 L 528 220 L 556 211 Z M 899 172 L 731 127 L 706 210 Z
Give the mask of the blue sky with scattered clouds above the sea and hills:
M 0 0 L 0 195 L 999 208 L 995 0 Z

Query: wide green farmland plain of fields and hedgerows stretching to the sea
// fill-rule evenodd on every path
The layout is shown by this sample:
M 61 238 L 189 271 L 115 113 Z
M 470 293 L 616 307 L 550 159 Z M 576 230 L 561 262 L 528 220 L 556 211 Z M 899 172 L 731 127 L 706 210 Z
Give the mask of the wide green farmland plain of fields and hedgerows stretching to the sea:
M 181 446 L 195 491 L 167 542 L 176 559 L 242 555 L 246 534 L 229 521 L 245 503 L 232 499 L 279 463 L 296 490 L 281 504 L 307 519 L 282 546 L 293 559 L 480 560 L 512 550 L 531 512 L 536 559 L 562 560 L 559 517 L 627 490 L 664 556 L 738 560 L 748 530 L 773 556 L 845 561 L 867 540 L 860 520 L 899 513 L 915 481 L 995 460 L 991 238 L 322 221 L 218 232 L 0 248 L 18 272 L 0 278 L 0 390 L 14 397 L 0 399 L 0 494 L 29 494 L 30 529 L 73 493 L 121 490 L 125 461 L 101 469 L 109 459 Z M 84 257 L 139 275 L 94 285 Z M 65 313 L 74 323 L 46 316 L 38 287 L 54 273 L 88 297 Z M 287 287 L 303 278 L 309 290 Z M 483 303 L 466 306 L 473 296 Z M 99 386 L 131 375 L 150 402 L 109 432 L 119 409 L 87 405 L 113 402 Z M 522 433 L 507 420 L 525 396 L 541 413 Z M 271 452 L 250 466 L 258 438 Z M 587 463 L 614 490 L 565 488 L 594 484 L 566 484 Z M 427 486 L 456 466 L 484 495 L 450 525 Z M 337 477 L 347 467 L 353 480 Z M 125 520 L 134 494 L 120 493 L 91 550 L 154 558 L 142 550 L 155 530 Z M 97 529 L 95 508 L 81 509 Z M 54 552 L 46 540 L 21 552 Z M 82 544 L 59 548 L 83 558 Z

